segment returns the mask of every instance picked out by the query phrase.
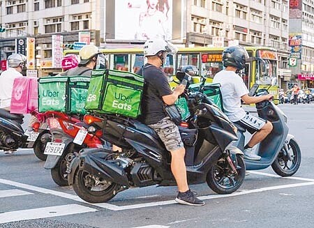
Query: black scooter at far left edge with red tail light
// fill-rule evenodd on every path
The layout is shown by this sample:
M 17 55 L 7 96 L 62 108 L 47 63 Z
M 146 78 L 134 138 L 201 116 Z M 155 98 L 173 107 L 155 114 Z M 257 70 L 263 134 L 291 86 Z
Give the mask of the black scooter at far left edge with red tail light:
M 15 151 L 19 148 L 33 148 L 37 158 L 45 160 L 43 154 L 45 145 L 50 141 L 51 135 L 44 123 L 42 114 L 33 112 L 38 118 L 33 123 L 31 135 L 25 135 L 22 128 L 22 114 L 12 114 L 5 109 L 0 109 L 0 149 L 3 151 Z

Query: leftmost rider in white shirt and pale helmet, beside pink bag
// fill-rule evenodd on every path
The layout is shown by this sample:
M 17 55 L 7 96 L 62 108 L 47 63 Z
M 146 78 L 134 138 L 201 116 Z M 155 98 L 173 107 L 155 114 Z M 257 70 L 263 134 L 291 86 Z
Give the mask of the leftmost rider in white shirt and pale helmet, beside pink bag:
M 22 70 L 25 68 L 26 56 L 23 54 L 11 54 L 8 56 L 8 70 L 0 75 L 0 108 L 10 111 L 13 82 L 16 77 L 23 77 Z

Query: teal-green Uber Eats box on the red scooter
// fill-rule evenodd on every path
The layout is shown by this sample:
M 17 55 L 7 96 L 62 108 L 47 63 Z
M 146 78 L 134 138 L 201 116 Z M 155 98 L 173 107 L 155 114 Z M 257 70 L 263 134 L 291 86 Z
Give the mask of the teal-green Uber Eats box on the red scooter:
M 89 80 L 87 76 L 40 77 L 38 111 L 85 114 Z

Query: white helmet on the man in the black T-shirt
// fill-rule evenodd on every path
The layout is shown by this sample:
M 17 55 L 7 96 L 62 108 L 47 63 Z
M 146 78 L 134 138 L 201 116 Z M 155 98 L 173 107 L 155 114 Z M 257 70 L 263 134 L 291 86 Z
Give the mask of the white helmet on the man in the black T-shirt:
M 158 52 L 167 52 L 167 54 L 176 54 L 177 47 L 172 43 L 161 38 L 147 40 L 144 43 L 144 56 L 154 56 Z

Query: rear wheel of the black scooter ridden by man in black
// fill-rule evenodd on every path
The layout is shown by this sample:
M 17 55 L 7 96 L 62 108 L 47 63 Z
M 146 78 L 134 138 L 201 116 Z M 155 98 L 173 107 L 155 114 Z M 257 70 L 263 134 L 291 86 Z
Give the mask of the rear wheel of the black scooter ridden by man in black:
M 86 170 L 78 170 L 74 176 L 73 190 L 89 203 L 105 203 L 117 194 L 118 189 L 117 183 L 94 176 Z

